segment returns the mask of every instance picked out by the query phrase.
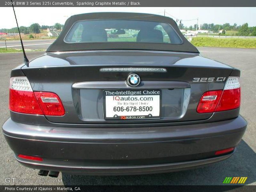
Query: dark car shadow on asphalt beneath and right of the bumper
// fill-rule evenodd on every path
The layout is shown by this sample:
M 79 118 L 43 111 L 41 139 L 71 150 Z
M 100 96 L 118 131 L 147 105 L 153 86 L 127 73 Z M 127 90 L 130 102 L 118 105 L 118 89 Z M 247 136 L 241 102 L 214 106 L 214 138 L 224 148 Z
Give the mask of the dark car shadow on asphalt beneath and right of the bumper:
M 62 173 L 62 181 L 64 185 L 223 185 L 226 177 L 248 177 L 244 184 L 252 184 L 256 181 L 255 160 L 255 152 L 242 140 L 237 146 L 236 153 L 229 159 L 203 168 L 131 176 Z

